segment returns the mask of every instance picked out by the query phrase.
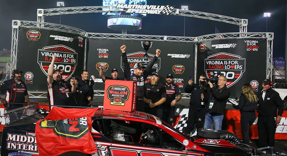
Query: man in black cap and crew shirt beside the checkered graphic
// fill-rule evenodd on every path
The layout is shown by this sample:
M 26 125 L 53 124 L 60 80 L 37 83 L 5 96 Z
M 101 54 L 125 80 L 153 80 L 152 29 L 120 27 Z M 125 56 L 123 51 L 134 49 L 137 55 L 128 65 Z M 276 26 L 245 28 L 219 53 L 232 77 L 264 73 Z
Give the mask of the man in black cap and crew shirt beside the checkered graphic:
M 167 77 L 165 78 L 164 86 L 167 91 L 167 100 L 162 104 L 162 109 L 163 109 L 162 121 L 172 126 L 172 121 L 173 121 L 174 112 L 175 112 L 174 106 L 176 102 L 181 99 L 181 91 L 177 85 L 173 84 L 172 74 L 167 74 Z

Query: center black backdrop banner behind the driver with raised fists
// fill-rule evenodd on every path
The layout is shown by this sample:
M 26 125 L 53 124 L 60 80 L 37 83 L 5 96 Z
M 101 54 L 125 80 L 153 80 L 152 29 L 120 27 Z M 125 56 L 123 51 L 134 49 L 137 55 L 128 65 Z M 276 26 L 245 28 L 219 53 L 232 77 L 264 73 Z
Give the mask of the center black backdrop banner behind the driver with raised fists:
M 99 69 L 102 64 L 106 65 L 105 76 L 111 77 L 113 68 L 119 71 L 119 77 L 124 76 L 120 51 L 120 46 L 124 44 L 127 46 L 128 62 L 131 70 L 133 70 L 134 64 L 140 62 L 145 53 L 141 41 L 89 39 L 87 70 L 90 75 L 95 75 L 97 78 L 94 85 L 95 90 L 103 90 L 105 86 L 99 77 Z M 190 76 L 194 76 L 194 43 L 152 41 L 148 55 L 153 57 L 156 54 L 156 49 L 161 50 L 161 55 L 154 64 L 152 71 L 158 71 L 161 83 L 165 83 L 167 74 L 172 73 L 175 84 L 184 92 L 184 87 Z M 148 76 L 146 82 L 149 80 L 150 77 Z

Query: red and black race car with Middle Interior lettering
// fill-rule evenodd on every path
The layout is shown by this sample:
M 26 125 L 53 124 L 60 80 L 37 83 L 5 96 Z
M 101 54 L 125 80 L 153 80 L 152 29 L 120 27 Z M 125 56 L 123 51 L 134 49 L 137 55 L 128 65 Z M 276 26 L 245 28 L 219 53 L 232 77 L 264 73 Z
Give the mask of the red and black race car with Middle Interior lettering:
M 3 128 L 1 155 L 15 155 L 17 152 L 26 155 L 39 155 L 35 140 L 35 122 L 41 118 L 43 119 L 47 113 L 41 113 L 43 111 L 38 109 L 28 110 L 32 108 L 35 109 L 32 106 L 26 106 L 23 110 L 18 108 L 17 111 L 12 110 L 6 113 L 16 112 L 16 114 L 22 114 L 22 116 L 18 117 L 16 122 L 10 124 L 7 122 L 9 126 Z M 32 113 L 27 115 L 27 112 Z M 251 146 L 240 143 L 238 137 L 233 133 L 203 130 L 196 136 L 188 137 L 162 122 L 158 117 L 144 112 L 123 112 L 100 108 L 96 110 L 91 119 L 91 135 L 97 148 L 97 153 L 92 155 L 204 156 L 263 154 Z M 45 122 L 45 126 L 54 127 L 56 124 Z M 60 126 L 60 124 L 57 124 L 57 126 Z M 73 151 L 73 149 L 69 150 Z

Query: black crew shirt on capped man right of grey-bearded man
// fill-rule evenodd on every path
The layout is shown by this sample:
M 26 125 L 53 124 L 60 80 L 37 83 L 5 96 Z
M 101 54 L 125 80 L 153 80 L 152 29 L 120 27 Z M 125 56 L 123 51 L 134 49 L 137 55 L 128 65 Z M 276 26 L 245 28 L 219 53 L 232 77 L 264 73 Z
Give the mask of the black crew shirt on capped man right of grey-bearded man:
M 167 100 L 162 103 L 163 106 L 170 106 L 170 103 L 175 99 L 176 95 L 181 95 L 181 91 L 177 85 L 171 84 L 167 85 L 165 84 L 165 89 L 167 91 Z

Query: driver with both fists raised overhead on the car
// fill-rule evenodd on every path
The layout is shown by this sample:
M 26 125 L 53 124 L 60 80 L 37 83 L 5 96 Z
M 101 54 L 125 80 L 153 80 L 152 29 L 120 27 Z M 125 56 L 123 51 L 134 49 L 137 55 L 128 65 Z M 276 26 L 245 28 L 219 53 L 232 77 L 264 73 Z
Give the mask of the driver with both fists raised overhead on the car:
M 126 49 L 125 45 L 122 45 L 120 47 L 120 50 L 122 51 L 122 59 L 124 64 L 125 80 L 137 82 L 137 100 L 135 110 L 144 112 L 144 101 L 143 101 L 144 83 L 145 83 L 144 81 L 148 77 L 148 73 L 152 69 L 154 63 L 158 60 L 161 51 L 159 49 L 156 50 L 156 55 L 150 62 L 148 62 L 146 67 L 143 67 L 142 63 L 136 63 L 134 65 L 134 72 L 131 73 L 125 49 Z

